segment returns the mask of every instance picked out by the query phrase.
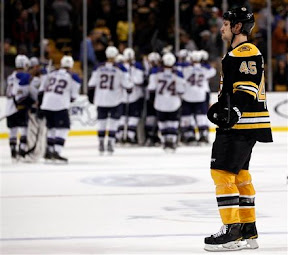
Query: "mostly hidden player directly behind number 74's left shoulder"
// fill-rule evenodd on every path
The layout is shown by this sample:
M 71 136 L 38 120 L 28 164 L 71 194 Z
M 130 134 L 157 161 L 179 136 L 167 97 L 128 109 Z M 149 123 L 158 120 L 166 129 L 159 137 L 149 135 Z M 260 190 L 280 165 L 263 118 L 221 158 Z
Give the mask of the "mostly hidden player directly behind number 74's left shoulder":
M 156 73 L 160 68 L 161 56 L 157 52 L 151 52 L 148 54 L 148 70 L 146 80 L 149 80 L 149 76 L 151 73 Z M 145 118 L 145 136 L 147 146 L 154 146 L 160 144 L 160 139 L 158 137 L 158 126 L 157 126 L 157 118 L 156 111 L 154 108 L 154 99 L 155 92 L 146 90 L 145 93 L 146 99 L 146 118 Z

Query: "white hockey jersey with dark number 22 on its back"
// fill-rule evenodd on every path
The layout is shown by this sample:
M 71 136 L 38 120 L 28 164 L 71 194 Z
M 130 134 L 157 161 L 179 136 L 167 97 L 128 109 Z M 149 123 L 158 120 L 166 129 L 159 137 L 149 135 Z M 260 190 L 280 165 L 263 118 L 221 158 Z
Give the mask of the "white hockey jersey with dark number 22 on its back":
M 55 70 L 43 79 L 40 91 L 44 91 L 42 110 L 60 111 L 68 109 L 71 99 L 79 95 L 80 78 L 64 68 Z

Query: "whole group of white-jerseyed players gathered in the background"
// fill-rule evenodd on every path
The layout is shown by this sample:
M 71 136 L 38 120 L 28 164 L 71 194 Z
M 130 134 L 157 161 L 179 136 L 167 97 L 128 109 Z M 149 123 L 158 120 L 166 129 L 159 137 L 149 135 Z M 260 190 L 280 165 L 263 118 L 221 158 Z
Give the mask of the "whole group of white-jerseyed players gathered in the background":
M 151 52 L 142 62 L 135 60 L 132 48 L 119 54 L 116 47 L 108 46 L 105 53 L 107 61 L 95 68 L 88 81 L 88 98 L 97 108 L 101 154 L 113 153 L 115 143 L 139 144 L 141 118 L 146 146 L 162 144 L 174 151 L 180 142 L 208 143 L 209 79 L 216 69 L 208 64 L 206 51 L 182 49 L 177 59 L 170 52 L 162 57 Z M 35 150 L 37 141 L 31 146 L 27 139 L 29 118 L 34 113 L 47 127 L 41 156 L 54 162 L 68 161 L 61 151 L 70 129 L 70 103 L 78 97 L 81 86 L 79 76 L 71 71 L 73 65 L 71 56 L 63 56 L 60 68 L 54 70 L 51 65 L 41 67 L 35 57 L 16 57 L 6 94 L 12 160 L 25 161 Z

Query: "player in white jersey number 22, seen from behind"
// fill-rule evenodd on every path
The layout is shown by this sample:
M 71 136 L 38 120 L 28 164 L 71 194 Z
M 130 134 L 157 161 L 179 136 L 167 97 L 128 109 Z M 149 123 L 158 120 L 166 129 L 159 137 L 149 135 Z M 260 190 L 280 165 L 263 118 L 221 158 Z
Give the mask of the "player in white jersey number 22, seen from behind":
M 67 158 L 61 156 L 70 129 L 68 109 L 70 102 L 78 97 L 81 83 L 79 76 L 71 72 L 73 65 L 71 56 L 63 56 L 60 69 L 49 73 L 41 83 L 40 109 L 44 112 L 48 128 L 46 160 L 68 162 Z

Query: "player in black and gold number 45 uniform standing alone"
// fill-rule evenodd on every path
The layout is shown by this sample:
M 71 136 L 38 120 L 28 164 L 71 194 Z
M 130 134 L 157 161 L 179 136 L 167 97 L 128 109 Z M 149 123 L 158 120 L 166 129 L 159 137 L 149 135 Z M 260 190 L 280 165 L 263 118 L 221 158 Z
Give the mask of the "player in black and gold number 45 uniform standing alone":
M 208 118 L 219 127 L 212 148 L 211 176 L 224 226 L 205 238 L 207 251 L 258 248 L 249 161 L 257 141 L 272 142 L 263 56 L 247 41 L 254 27 L 253 13 L 239 7 L 225 12 L 223 19 L 222 39 L 231 47 L 222 59 L 218 102 L 210 107 Z

